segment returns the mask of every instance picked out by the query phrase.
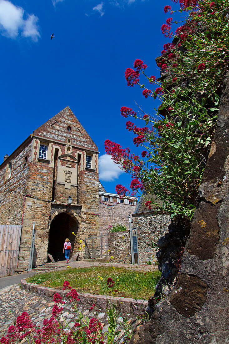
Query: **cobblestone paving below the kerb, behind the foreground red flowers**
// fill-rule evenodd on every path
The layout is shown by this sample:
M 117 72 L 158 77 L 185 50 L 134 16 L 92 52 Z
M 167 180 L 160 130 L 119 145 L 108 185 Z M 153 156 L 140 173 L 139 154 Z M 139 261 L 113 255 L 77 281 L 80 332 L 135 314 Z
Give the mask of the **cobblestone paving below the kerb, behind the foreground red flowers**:
M 24 311 L 29 314 L 31 320 L 33 320 L 37 326 L 42 326 L 44 319 L 51 318 L 54 304 L 51 297 L 28 292 L 27 290 L 21 289 L 17 284 L 0 290 L 0 337 L 6 334 L 8 327 L 12 325 L 17 317 Z M 62 307 L 64 309 L 60 321 L 65 321 L 68 327 L 72 328 L 76 320 L 74 319 L 75 314 L 72 313 L 70 302 L 66 302 Z M 95 311 L 90 312 L 88 310 L 89 307 L 88 305 L 84 305 L 79 308 L 79 311 L 84 315 L 83 320 L 86 320 L 86 316 L 90 319 L 96 315 Z M 108 327 L 107 314 L 103 310 L 97 309 L 97 316 L 103 326 L 102 332 L 106 332 Z M 138 329 L 141 320 L 138 320 L 134 314 L 127 314 L 127 319 L 132 330 Z M 118 321 L 119 323 L 123 322 L 122 315 L 119 315 Z M 117 325 L 117 330 L 119 327 L 120 325 Z M 118 336 L 118 342 L 120 342 L 120 344 L 122 343 L 123 332 L 124 331 L 121 331 Z M 105 340 L 105 343 L 106 342 Z

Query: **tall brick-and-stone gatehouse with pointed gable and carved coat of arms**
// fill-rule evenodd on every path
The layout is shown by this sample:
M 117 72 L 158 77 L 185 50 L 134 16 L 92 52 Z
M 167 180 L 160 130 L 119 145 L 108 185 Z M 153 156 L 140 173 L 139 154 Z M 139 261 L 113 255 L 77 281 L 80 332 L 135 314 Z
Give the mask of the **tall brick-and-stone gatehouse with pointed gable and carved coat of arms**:
M 66 237 L 74 253 L 79 239 L 98 234 L 98 190 L 98 147 L 69 107 L 6 155 L 0 165 L 0 224 L 22 224 L 18 269 L 28 268 L 33 222 L 33 265 L 46 262 L 47 253 L 64 259 Z

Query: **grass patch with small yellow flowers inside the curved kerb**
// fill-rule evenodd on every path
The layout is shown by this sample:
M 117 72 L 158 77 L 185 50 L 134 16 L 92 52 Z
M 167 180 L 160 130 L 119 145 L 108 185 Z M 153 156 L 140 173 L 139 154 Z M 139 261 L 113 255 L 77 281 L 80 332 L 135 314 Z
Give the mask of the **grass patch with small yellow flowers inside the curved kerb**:
M 99 279 L 98 275 L 101 279 Z M 154 271 L 139 271 L 135 269 L 95 267 L 70 268 L 67 270 L 40 273 L 26 279 L 29 283 L 41 284 L 45 287 L 61 288 L 64 281 L 68 281 L 78 292 L 93 294 L 116 295 L 143 299 L 153 295 L 156 283 L 161 273 Z M 111 277 L 114 286 L 108 288 L 107 279 Z M 117 290 L 117 292 L 114 292 Z

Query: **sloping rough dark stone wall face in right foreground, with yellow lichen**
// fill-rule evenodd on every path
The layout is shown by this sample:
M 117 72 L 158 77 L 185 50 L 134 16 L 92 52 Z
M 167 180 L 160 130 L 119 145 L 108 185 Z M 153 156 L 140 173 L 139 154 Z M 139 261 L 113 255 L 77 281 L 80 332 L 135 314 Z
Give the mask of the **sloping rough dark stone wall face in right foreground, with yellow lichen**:
M 178 282 L 131 343 L 229 343 L 229 73 Z

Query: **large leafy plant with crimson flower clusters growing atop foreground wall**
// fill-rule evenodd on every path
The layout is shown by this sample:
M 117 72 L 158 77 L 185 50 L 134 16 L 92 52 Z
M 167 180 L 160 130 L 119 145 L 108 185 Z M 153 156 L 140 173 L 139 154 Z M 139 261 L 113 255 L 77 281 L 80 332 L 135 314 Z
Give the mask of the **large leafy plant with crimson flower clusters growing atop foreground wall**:
M 162 56 L 156 58 L 161 77 L 148 77 L 149 67 L 141 60 L 134 62 L 131 74 L 130 68 L 125 74 L 128 85 L 144 89 L 145 98 L 161 101 L 158 111 L 151 116 L 137 116 L 132 109 L 125 112 L 124 117 L 144 121 L 142 128 L 130 120 L 126 123 L 127 129 L 136 135 L 133 143 L 143 148 L 142 159 L 110 140 L 105 141 L 105 150 L 124 171 L 132 174 L 132 196 L 145 189 L 161 200 L 156 204 L 146 200 L 146 208 L 190 223 L 215 133 L 223 79 L 229 69 L 229 1 L 179 3 L 178 12 L 187 12 L 183 25 L 174 34 L 171 28 L 176 21 L 172 17 L 162 25 L 165 36 L 174 39 L 164 44 Z M 168 11 L 176 12 L 166 5 L 164 12 Z M 154 83 L 155 90 L 140 83 L 141 76 Z M 116 191 L 120 195 L 130 193 L 120 184 Z

